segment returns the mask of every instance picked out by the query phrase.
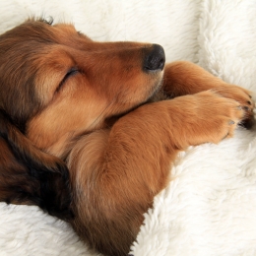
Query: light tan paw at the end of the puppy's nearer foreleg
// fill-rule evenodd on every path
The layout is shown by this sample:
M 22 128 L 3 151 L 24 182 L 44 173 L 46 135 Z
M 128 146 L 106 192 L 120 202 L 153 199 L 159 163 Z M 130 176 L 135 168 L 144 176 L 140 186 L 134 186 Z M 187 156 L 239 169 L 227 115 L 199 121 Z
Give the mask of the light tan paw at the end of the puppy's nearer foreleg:
M 219 143 L 224 138 L 232 137 L 237 125 L 247 116 L 248 110 L 241 102 L 216 94 L 212 90 L 194 96 L 198 107 L 194 118 L 200 122 L 192 129 L 200 130 L 200 143 Z

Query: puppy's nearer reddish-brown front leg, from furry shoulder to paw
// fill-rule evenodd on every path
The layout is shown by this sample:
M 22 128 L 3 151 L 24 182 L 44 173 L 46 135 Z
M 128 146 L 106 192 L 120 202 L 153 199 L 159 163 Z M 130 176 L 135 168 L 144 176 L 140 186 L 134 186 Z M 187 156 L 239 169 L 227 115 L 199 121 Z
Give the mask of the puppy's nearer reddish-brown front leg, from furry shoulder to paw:
M 74 228 L 104 255 L 126 255 L 177 153 L 231 136 L 244 113 L 237 101 L 207 91 L 145 104 L 110 131 L 86 136 L 68 160 L 76 172 Z

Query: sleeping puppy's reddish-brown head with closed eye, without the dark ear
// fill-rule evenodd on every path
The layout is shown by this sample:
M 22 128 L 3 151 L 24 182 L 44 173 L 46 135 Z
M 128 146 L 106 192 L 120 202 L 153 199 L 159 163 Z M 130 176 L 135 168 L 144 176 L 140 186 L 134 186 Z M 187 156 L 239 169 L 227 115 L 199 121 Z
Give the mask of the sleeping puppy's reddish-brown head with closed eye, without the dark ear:
M 35 20 L 0 36 L 0 59 L 0 108 L 58 157 L 77 135 L 153 96 L 164 66 L 160 45 L 96 42 Z

